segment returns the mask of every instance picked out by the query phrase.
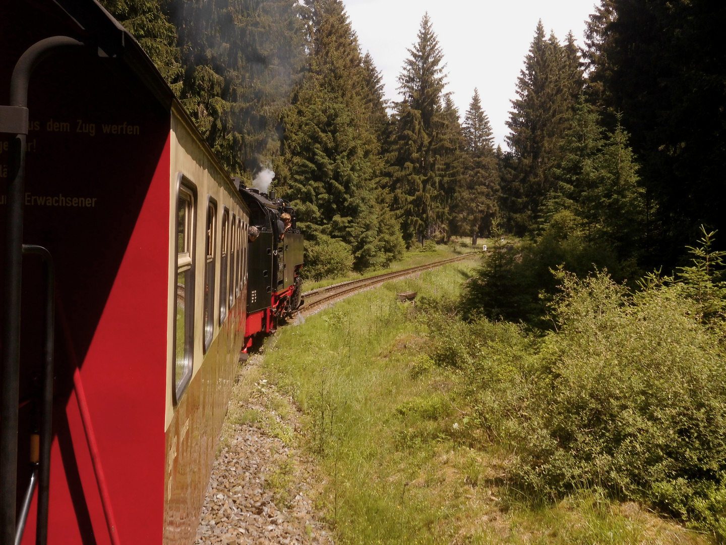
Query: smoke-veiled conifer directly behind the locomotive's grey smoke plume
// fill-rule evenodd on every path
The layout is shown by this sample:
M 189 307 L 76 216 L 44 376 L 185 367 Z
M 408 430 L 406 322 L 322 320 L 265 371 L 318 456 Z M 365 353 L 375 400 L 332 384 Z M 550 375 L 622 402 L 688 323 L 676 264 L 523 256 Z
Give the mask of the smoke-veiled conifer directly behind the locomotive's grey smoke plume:
M 280 171 L 282 112 L 305 68 L 293 0 L 170 0 L 184 66 L 181 102 L 232 174 Z

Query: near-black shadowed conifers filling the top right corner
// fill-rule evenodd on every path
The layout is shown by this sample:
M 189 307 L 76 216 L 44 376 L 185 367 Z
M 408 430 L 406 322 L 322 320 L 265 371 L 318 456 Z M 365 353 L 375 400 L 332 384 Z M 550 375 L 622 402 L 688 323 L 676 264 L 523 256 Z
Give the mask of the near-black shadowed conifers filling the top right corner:
M 649 261 L 677 265 L 701 223 L 721 231 L 726 5 L 602 0 L 587 25 L 592 100 L 632 134 L 649 214 Z

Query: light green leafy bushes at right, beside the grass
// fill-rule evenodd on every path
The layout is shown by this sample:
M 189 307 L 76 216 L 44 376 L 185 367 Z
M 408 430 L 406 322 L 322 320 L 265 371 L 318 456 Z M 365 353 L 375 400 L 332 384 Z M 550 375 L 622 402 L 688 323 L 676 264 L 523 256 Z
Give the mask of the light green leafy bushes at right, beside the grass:
M 677 278 L 650 275 L 635 293 L 560 271 L 541 339 L 431 318 L 429 354 L 464 374 L 473 427 L 513 452 L 511 483 L 550 498 L 601 488 L 726 538 L 726 291 L 712 237 Z

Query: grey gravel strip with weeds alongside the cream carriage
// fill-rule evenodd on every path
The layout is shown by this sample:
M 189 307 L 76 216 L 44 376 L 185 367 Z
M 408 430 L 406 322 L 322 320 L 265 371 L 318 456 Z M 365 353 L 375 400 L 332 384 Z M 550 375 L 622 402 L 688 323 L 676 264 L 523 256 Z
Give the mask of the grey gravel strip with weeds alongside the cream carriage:
M 237 377 L 195 545 L 333 545 L 314 509 L 313 468 L 295 448 L 297 409 L 266 384 L 260 361 Z

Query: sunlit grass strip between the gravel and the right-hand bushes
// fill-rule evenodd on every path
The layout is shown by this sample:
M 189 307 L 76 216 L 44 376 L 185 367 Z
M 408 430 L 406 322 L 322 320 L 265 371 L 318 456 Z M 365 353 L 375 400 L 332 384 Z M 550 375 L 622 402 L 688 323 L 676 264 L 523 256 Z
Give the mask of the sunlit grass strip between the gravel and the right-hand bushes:
M 420 309 L 427 297 L 454 299 L 472 265 L 387 283 L 269 343 L 256 379 L 277 384 L 301 408 L 301 447 L 322 474 L 319 506 L 338 542 L 708 543 L 635 503 L 592 491 L 553 503 L 507 485 L 511 452 L 466 424 L 465 374 L 426 355 L 431 331 Z M 418 291 L 424 304 L 396 302 L 402 290 Z

